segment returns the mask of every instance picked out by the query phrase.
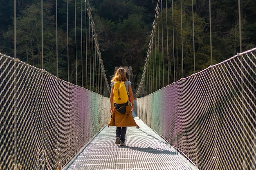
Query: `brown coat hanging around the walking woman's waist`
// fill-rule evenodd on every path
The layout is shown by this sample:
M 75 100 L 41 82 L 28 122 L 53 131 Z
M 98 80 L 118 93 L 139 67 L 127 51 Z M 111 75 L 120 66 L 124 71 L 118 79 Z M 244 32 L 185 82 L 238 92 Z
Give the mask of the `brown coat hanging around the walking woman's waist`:
M 117 126 L 117 127 L 136 126 L 137 128 L 139 128 L 139 126 L 136 124 L 135 120 L 132 117 L 130 104 L 126 106 L 126 113 L 124 114 L 118 112 L 117 109 L 114 108 L 111 119 L 108 122 L 108 127 L 109 126 Z

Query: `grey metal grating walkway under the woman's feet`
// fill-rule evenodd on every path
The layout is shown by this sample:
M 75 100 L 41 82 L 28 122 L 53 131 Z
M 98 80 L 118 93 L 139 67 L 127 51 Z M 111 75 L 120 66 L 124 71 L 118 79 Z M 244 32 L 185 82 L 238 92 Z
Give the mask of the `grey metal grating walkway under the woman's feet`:
M 126 146 L 115 144 L 115 126 L 106 126 L 64 170 L 195 170 L 164 140 L 135 117 Z

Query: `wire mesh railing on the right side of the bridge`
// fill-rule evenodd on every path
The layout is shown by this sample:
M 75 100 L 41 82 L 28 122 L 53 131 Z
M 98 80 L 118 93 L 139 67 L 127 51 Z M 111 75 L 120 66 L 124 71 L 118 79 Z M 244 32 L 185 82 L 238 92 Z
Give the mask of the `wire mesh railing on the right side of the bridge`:
M 256 169 L 256 48 L 136 100 L 138 116 L 200 170 Z

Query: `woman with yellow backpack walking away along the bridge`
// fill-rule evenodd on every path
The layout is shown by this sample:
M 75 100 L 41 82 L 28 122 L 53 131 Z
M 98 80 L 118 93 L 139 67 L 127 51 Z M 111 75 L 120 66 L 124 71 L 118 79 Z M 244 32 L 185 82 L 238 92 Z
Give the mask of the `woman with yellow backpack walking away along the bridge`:
M 117 126 L 115 144 L 126 146 L 127 126 L 139 126 L 132 117 L 133 93 L 131 82 L 126 78 L 126 70 L 118 68 L 111 79 L 110 113 L 109 126 Z M 130 102 L 128 98 L 130 97 Z

